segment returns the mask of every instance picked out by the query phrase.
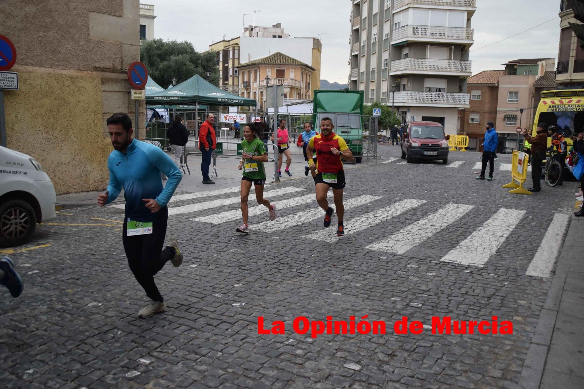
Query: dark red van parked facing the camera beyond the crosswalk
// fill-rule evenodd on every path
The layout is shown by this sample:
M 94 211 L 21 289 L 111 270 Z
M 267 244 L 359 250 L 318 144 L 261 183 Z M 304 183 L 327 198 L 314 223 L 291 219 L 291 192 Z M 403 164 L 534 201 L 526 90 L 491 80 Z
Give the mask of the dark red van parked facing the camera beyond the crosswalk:
M 448 139 L 444 135 L 442 124 L 433 121 L 408 122 L 401 142 L 402 159 L 412 162 L 414 159 L 435 160 L 448 163 Z

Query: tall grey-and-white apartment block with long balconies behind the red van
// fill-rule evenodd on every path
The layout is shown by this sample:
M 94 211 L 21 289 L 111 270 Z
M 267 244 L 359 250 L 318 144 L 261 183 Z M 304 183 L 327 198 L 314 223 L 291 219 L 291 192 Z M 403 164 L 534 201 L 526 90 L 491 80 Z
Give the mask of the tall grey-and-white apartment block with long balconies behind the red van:
M 349 87 L 456 134 L 469 106 L 475 0 L 351 0 Z

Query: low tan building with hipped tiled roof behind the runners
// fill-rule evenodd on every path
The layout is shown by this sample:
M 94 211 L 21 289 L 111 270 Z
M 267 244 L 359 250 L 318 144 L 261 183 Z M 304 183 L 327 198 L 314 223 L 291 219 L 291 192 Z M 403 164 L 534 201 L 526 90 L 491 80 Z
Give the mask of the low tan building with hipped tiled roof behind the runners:
M 240 96 L 259 101 L 262 110 L 265 109 L 266 81 L 267 85 L 284 85 L 284 99 L 312 98 L 311 80 L 316 69 L 281 52 L 246 62 L 238 69 Z

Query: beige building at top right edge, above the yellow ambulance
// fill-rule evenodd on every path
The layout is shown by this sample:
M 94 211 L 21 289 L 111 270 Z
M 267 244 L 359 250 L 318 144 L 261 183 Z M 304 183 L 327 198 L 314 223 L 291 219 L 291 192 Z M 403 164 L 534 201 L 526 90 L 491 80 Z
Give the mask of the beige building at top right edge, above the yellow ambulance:
M 578 23 L 566 0 L 559 1 L 559 50 L 555 82 L 559 87 L 584 87 L 584 50 L 568 23 Z

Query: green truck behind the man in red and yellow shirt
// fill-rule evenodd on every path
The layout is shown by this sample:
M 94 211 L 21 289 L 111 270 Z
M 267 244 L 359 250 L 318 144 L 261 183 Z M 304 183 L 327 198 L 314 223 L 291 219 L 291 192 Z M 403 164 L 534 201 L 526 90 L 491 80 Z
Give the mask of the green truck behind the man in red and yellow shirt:
M 363 159 L 363 90 L 315 90 L 312 122 L 318 131 L 321 119 L 329 117 L 335 134 L 345 139 L 356 163 Z

